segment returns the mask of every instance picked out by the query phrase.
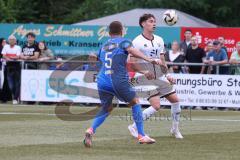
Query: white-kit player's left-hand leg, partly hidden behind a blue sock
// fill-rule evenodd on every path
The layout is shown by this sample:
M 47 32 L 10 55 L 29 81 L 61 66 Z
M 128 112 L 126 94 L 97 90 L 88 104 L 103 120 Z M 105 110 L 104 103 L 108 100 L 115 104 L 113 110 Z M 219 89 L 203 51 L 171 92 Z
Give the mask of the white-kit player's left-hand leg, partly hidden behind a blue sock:
M 156 113 L 160 109 L 160 97 L 158 95 L 152 96 L 149 98 L 149 102 L 151 104 L 150 107 L 146 108 L 143 111 L 143 120 L 147 120 L 149 117 L 151 117 L 154 113 Z M 133 123 L 128 126 L 128 130 L 130 131 L 131 135 L 133 137 L 138 136 L 138 132 L 136 129 L 136 123 Z

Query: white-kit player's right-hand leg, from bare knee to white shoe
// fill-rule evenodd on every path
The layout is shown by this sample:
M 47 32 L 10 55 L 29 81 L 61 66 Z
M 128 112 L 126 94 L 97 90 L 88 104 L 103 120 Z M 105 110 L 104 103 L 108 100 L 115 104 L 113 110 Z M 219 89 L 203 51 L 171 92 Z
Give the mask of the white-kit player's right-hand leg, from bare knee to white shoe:
M 179 139 L 182 139 L 183 136 L 179 130 L 181 106 L 179 99 L 176 93 L 169 94 L 165 97 L 171 103 L 171 116 L 172 116 L 172 127 L 170 132 Z

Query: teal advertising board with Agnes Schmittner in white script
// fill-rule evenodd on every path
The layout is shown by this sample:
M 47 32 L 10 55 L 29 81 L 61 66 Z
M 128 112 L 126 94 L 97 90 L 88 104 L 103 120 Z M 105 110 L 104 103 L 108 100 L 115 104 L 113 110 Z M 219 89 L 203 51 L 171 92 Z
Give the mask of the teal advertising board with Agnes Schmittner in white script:
M 33 32 L 37 41 L 45 41 L 55 55 L 86 55 L 97 52 L 109 38 L 107 26 L 79 26 L 53 24 L 0 24 L 0 37 L 15 35 L 23 46 L 26 34 Z M 140 27 L 125 26 L 124 37 L 133 40 L 141 33 Z M 167 47 L 173 40 L 180 41 L 180 28 L 157 27 L 155 34 L 161 36 Z

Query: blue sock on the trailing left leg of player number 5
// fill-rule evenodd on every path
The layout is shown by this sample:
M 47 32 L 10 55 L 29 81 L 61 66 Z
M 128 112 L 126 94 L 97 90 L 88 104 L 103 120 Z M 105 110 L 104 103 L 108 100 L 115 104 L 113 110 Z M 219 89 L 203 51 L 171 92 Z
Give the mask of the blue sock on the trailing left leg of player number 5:
M 109 115 L 109 112 L 107 107 L 102 107 L 101 110 L 95 116 L 92 123 L 92 128 L 94 133 L 96 132 L 96 129 L 104 122 L 104 120 L 108 115 Z

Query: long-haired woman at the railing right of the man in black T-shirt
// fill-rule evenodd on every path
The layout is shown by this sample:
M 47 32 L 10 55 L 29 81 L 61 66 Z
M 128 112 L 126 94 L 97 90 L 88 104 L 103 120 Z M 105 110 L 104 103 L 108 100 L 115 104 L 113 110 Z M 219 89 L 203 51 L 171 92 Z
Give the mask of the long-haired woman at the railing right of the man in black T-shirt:
M 38 61 L 44 62 L 44 61 L 54 59 L 54 55 L 53 55 L 52 51 L 46 47 L 44 42 L 39 42 L 38 48 L 40 50 Z M 50 65 L 49 63 L 42 63 L 42 64 L 40 64 L 40 69 L 48 69 L 49 65 Z

